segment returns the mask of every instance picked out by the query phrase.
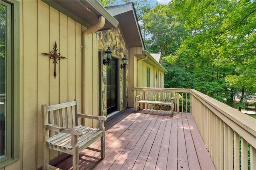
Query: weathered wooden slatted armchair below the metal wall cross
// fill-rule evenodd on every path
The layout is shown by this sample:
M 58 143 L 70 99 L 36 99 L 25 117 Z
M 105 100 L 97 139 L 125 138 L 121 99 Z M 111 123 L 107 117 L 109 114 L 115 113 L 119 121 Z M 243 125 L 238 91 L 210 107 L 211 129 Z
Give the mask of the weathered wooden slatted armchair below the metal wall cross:
M 78 125 L 78 118 L 96 119 L 99 128 L 90 128 Z M 49 150 L 73 155 L 73 170 L 79 170 L 79 153 L 84 149 L 90 149 L 101 153 L 100 158 L 105 157 L 105 116 L 90 116 L 79 112 L 78 99 L 58 105 L 42 105 L 43 125 L 43 170 L 57 169 L 49 165 Z M 101 138 L 100 149 L 90 148 L 93 142 Z

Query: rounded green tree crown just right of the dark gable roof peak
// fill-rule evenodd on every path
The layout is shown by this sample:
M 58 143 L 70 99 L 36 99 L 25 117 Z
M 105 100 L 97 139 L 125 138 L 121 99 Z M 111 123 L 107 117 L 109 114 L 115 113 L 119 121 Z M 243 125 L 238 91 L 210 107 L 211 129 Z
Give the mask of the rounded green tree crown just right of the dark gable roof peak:
M 146 39 L 146 48 L 150 52 L 161 52 L 170 55 L 180 46 L 186 35 L 182 20 L 170 15 L 170 8 L 157 4 L 142 17 L 145 31 L 150 35 Z

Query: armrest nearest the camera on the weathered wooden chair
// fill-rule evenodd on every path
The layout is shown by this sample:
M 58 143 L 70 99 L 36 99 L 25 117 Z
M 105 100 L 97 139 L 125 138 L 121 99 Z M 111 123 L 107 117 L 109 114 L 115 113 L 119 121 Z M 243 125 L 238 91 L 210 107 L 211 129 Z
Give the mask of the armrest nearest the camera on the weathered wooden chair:
M 80 136 L 82 134 L 82 131 L 78 128 L 64 128 L 64 127 L 60 127 L 60 126 L 53 125 L 53 124 L 46 124 L 46 125 L 44 125 L 44 127 L 47 130 L 53 130 L 53 131 L 56 131 L 56 132 L 73 134 L 73 135 L 76 135 L 76 136 Z

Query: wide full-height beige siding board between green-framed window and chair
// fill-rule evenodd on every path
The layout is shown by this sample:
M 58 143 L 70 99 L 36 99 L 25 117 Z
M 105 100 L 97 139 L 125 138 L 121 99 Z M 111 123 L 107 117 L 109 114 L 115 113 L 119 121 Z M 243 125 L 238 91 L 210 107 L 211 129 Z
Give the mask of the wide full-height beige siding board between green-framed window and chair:
M 37 1 L 23 1 L 23 169 L 36 169 Z

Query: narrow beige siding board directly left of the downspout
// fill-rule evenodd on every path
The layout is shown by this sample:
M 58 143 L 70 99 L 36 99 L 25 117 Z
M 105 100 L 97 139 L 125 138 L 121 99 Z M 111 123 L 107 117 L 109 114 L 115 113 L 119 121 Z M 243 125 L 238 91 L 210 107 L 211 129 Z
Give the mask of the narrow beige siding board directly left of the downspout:
M 78 22 L 76 26 L 76 99 L 79 100 L 79 110 L 82 112 L 82 26 Z M 81 119 L 78 119 L 81 124 Z

